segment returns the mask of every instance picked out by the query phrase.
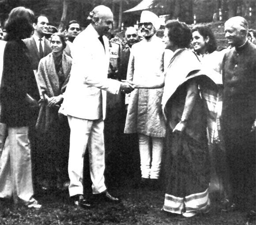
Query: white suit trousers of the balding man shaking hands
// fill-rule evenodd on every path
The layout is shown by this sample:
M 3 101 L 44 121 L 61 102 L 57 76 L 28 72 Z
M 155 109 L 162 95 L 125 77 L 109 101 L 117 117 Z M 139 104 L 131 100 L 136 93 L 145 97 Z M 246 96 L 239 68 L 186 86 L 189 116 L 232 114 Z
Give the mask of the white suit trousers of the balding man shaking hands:
M 88 144 L 90 178 L 93 194 L 106 190 L 104 122 L 85 120 L 68 115 L 70 126 L 70 149 L 68 159 L 68 175 L 70 179 L 69 195 L 83 194 L 83 156 Z

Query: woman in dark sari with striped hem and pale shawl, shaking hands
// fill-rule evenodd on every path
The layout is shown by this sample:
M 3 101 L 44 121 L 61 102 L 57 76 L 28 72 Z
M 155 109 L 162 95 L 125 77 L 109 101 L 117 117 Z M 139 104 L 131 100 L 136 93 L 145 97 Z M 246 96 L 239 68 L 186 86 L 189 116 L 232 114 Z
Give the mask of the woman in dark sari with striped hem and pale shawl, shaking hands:
M 167 22 L 164 40 L 174 54 L 165 76 L 159 76 L 154 83 L 146 80 L 133 83 L 137 88 L 164 86 L 162 110 L 167 125 L 165 158 L 168 171 L 163 210 L 184 217 L 207 212 L 210 205 L 208 109 L 203 96 L 210 87 L 216 91 L 215 83 L 201 73 L 196 55 L 188 50 L 191 38 L 191 31 L 185 23 Z

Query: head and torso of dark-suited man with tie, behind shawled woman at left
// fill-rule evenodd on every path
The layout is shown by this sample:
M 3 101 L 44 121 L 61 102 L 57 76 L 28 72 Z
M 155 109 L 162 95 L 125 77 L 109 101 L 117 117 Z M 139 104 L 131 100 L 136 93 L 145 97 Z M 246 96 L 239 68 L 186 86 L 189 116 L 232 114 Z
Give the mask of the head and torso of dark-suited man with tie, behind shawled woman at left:
M 48 18 L 45 15 L 39 15 L 33 23 L 34 34 L 23 40 L 28 48 L 33 70 L 38 70 L 40 59 L 52 51 L 49 40 L 45 38 L 45 33 L 48 32 L 48 25 Z

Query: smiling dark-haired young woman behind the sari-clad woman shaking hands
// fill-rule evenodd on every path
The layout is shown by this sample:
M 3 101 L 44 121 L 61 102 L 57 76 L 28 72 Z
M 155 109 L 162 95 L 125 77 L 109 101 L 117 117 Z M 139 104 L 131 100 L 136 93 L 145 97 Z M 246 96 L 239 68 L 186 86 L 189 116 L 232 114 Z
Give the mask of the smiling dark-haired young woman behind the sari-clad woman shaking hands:
M 215 36 L 207 25 L 195 25 L 192 28 L 192 46 L 203 67 L 217 72 L 215 83 L 218 86 L 218 99 L 215 105 L 215 113 L 208 118 L 209 155 L 212 164 L 210 192 L 219 190 L 223 207 L 228 207 L 230 182 L 226 164 L 226 151 L 220 130 L 223 91 L 221 68 L 227 49 L 216 51 Z

